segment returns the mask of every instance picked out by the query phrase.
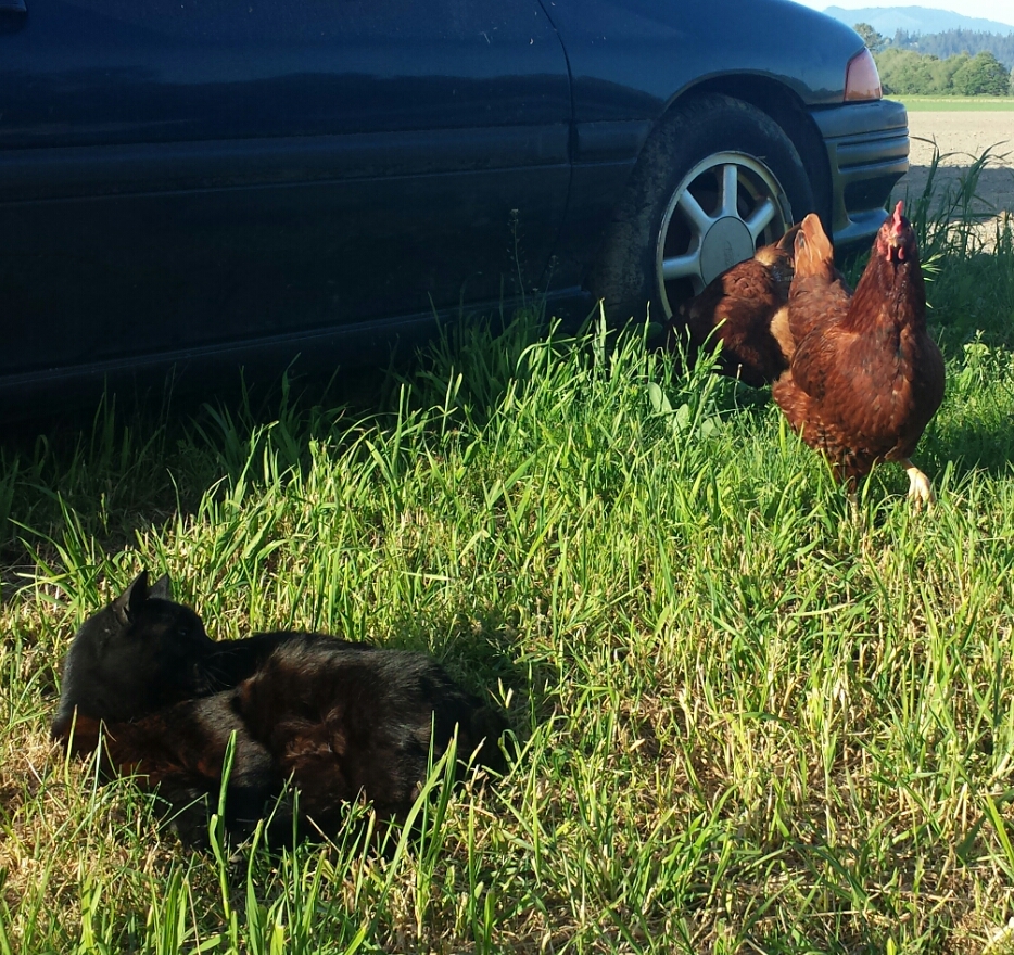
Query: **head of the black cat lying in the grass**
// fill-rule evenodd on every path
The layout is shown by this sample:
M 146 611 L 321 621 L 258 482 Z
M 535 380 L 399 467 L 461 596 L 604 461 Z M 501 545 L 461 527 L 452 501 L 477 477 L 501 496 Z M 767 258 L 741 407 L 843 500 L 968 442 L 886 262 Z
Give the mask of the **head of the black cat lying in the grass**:
M 172 599 L 168 575 L 149 587 L 141 571 L 75 634 L 53 735 L 66 736 L 75 708 L 97 720 L 134 720 L 208 692 L 204 661 L 214 646 L 201 617 Z

